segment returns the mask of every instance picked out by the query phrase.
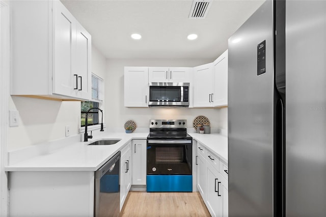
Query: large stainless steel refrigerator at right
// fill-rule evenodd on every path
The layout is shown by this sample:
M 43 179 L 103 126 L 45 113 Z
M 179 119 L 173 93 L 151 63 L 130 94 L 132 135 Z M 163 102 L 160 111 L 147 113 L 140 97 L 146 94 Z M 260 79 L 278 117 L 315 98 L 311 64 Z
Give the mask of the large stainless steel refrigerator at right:
M 326 1 L 269 1 L 229 39 L 229 216 L 326 216 Z

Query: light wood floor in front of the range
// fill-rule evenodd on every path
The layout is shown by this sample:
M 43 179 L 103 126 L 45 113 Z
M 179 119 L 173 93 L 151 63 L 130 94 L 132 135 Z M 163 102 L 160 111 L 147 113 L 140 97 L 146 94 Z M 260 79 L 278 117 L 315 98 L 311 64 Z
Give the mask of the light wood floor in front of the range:
M 199 192 L 129 192 L 120 216 L 210 216 Z

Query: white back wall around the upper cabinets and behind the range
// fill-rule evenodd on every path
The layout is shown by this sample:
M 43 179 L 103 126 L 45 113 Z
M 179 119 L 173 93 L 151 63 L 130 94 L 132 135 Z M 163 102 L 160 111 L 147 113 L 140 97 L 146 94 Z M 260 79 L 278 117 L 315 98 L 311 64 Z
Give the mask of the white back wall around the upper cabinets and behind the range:
M 105 122 L 108 127 L 123 130 L 127 120 L 133 120 L 138 127 L 148 127 L 150 119 L 186 119 L 188 127 L 199 116 L 206 116 L 211 127 L 227 129 L 227 108 L 127 108 L 124 107 L 124 66 L 179 66 L 193 67 L 213 60 L 152 60 L 114 59 L 107 60 L 105 76 Z

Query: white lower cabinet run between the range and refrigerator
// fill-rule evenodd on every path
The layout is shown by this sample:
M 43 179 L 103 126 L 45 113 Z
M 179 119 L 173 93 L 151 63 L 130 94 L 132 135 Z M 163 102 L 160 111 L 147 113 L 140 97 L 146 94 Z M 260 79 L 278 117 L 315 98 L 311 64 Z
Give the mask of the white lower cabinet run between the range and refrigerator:
M 228 216 L 227 164 L 197 141 L 197 188 L 212 216 Z M 221 170 L 224 169 L 224 170 Z M 225 173 L 225 174 L 224 174 Z

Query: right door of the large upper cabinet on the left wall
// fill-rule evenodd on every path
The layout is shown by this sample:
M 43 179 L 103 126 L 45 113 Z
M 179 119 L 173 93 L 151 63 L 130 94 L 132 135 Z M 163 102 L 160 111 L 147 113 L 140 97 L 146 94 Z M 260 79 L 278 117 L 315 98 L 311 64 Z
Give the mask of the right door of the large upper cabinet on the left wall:
M 73 88 L 78 98 L 91 99 L 91 35 L 77 22 Z

